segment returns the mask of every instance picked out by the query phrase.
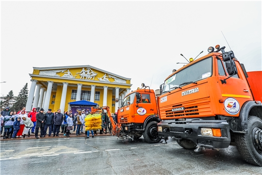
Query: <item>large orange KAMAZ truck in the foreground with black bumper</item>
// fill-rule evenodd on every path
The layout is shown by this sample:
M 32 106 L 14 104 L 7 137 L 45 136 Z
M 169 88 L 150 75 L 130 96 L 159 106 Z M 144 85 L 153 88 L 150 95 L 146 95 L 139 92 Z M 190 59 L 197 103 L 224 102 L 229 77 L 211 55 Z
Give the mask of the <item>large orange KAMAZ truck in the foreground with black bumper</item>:
M 234 142 L 247 162 L 262 166 L 262 71 L 246 72 L 232 51 L 215 48 L 160 86 L 159 137 L 196 152 Z

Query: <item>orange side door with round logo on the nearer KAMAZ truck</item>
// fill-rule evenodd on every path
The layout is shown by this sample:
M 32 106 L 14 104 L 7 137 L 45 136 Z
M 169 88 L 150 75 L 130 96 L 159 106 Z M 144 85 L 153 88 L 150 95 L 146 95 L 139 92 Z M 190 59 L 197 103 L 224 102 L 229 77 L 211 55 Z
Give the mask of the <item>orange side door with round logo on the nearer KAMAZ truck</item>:
M 217 59 L 218 79 L 221 95 L 224 100 L 225 115 L 239 116 L 241 106 L 249 100 L 252 100 L 249 86 L 246 81 L 245 74 L 238 62 L 235 62 L 238 74 L 228 78 L 226 83 L 221 83 L 221 80 L 226 79 L 229 75 L 225 70 L 223 61 Z

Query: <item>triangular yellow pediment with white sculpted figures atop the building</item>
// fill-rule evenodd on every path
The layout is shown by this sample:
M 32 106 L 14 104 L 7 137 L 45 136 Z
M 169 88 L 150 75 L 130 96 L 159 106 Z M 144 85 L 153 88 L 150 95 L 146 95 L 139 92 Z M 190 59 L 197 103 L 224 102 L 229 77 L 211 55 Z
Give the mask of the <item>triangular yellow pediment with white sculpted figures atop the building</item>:
M 101 70 L 90 65 L 45 68 L 33 67 L 33 74 L 57 78 L 61 77 L 121 84 L 126 84 L 127 80 L 131 80 L 131 78 L 125 78 L 115 73 Z

